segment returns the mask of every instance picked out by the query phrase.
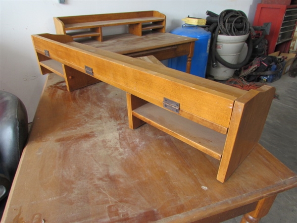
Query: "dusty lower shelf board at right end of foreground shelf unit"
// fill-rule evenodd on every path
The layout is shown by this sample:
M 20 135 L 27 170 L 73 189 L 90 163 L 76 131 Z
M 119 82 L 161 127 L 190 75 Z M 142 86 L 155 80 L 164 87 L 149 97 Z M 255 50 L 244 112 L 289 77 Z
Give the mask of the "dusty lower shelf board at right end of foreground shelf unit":
M 132 114 L 203 153 L 221 160 L 226 135 L 150 103 L 133 110 Z

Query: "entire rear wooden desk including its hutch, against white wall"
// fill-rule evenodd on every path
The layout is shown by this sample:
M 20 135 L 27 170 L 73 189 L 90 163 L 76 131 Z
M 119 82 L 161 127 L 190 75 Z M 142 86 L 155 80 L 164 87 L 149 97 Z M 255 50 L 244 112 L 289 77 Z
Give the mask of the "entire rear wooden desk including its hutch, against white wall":
M 166 16 L 158 11 L 136 11 L 53 18 L 56 34 L 67 34 L 76 41 L 110 52 L 158 60 L 188 56 L 186 72 L 191 71 L 196 38 L 165 33 Z M 128 33 L 103 35 L 102 27 L 127 26 Z M 80 38 L 87 37 L 88 41 Z M 79 38 L 79 39 L 78 39 Z

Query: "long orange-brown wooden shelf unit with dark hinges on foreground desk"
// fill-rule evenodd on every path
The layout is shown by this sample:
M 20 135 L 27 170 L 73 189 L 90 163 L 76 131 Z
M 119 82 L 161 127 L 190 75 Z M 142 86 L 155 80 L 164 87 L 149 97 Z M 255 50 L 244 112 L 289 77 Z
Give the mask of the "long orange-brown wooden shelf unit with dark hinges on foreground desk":
M 214 157 L 220 162 L 220 182 L 257 145 L 275 93 L 266 85 L 244 91 L 145 60 L 91 51 L 67 35 L 40 34 L 32 40 L 42 73 L 56 70 L 50 67 L 56 63 L 45 62 L 53 59 L 75 81 L 69 88 L 91 78 L 127 92 L 130 128 L 147 122 Z

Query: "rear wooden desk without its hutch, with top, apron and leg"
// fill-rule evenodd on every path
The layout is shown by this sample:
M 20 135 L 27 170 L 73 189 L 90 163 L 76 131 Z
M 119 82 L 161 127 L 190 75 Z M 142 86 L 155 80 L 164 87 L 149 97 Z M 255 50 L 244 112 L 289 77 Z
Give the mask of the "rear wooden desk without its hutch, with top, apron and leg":
M 103 36 L 102 42 L 93 39 L 77 42 L 132 57 L 152 55 L 158 60 L 164 60 L 187 55 L 187 73 L 190 73 L 196 40 L 171 33 L 148 32 L 143 36 L 130 33 Z

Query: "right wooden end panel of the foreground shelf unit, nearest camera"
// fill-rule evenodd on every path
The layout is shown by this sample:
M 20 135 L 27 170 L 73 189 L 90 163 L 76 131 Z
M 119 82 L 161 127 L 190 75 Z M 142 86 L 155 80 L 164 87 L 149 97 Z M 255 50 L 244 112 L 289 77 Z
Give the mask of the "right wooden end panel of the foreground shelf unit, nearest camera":
M 235 101 L 217 179 L 224 182 L 258 143 L 275 88 L 250 90 Z

